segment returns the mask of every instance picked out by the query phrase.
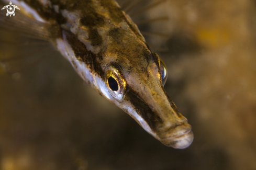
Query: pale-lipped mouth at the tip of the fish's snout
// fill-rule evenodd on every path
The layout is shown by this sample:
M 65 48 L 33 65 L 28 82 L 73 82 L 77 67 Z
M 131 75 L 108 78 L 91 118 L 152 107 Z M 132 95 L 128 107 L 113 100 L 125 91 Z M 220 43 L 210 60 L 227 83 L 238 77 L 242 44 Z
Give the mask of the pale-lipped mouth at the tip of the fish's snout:
M 159 141 L 161 141 L 164 145 L 172 146 L 172 148 L 175 149 L 185 149 L 191 145 L 193 139 L 194 134 L 190 128 L 189 130 L 179 132 L 177 135 L 173 135 L 169 138 L 159 138 Z

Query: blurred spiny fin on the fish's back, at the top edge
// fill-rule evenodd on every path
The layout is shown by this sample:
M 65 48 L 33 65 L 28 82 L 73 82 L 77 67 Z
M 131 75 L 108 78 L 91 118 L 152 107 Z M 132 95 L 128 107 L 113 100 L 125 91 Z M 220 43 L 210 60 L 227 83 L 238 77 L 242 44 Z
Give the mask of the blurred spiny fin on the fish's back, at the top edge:
M 135 22 L 135 24 L 138 26 L 141 34 L 144 36 L 152 50 L 159 52 L 168 51 L 168 47 L 166 47 L 166 41 L 171 37 L 171 33 L 167 33 L 169 32 L 167 30 L 163 30 L 165 33 L 155 32 L 154 28 L 157 28 L 158 25 L 161 25 L 160 27 L 163 28 L 163 21 L 167 21 L 170 18 L 166 15 L 162 15 L 162 13 L 160 15 L 155 15 L 155 18 L 151 18 L 149 17 L 151 15 L 148 15 L 148 12 L 151 12 L 151 9 L 154 9 L 155 7 L 163 4 L 166 2 L 166 0 L 117 1 L 119 2 L 121 9 L 124 10 L 125 13 L 129 14 L 133 22 Z

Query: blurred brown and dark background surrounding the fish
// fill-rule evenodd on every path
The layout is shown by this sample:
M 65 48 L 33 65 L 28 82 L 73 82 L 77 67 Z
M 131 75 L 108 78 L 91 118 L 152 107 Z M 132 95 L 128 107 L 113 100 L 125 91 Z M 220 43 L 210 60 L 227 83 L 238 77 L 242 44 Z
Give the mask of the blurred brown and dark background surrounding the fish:
M 132 18 L 165 16 L 139 27 L 168 67 L 191 146 L 151 137 L 49 47 L 22 72 L 0 70 L 0 169 L 256 169 L 256 1 L 168 0 Z

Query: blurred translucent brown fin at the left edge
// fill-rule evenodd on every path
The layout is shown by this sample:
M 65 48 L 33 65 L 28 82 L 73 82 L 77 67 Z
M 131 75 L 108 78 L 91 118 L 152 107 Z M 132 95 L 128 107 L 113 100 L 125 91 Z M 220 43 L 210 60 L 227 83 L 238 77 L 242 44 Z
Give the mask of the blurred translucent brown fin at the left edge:
M 6 73 L 28 70 L 54 51 L 54 26 L 24 16 L 0 16 L 0 64 Z

